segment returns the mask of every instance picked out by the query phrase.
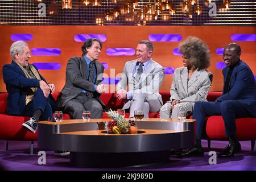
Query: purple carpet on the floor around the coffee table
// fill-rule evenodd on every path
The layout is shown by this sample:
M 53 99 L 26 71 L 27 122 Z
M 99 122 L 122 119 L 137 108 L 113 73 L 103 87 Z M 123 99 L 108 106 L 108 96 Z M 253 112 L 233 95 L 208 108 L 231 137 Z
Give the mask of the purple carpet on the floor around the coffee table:
M 147 167 L 123 168 L 81 168 L 73 167 L 68 156 L 55 156 L 53 151 L 46 151 L 46 164 L 39 165 L 37 142 L 34 142 L 34 155 L 29 154 L 29 142 L 9 141 L 9 151 L 0 140 L 0 166 L 7 171 L 256 171 L 256 152 L 251 151 L 250 141 L 241 142 L 242 152 L 233 158 L 218 158 L 217 164 L 209 164 L 209 151 L 221 152 L 228 142 L 212 141 L 210 149 L 205 148 L 202 157 L 179 158 L 172 156 L 169 163 Z M 203 140 L 203 147 L 207 141 Z M 129 160 L 129 159 L 126 159 Z

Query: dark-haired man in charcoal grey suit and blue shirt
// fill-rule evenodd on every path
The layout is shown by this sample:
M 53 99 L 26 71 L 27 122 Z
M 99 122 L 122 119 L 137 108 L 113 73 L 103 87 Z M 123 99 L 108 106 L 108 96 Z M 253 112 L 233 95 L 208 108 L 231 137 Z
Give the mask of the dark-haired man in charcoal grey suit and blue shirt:
M 81 119 L 83 110 L 90 111 L 90 118 L 101 118 L 106 108 L 99 98 L 106 89 L 100 84 L 104 66 L 97 61 L 101 48 L 101 40 L 88 39 L 82 46 L 82 57 L 71 57 L 68 61 L 58 105 L 73 119 Z

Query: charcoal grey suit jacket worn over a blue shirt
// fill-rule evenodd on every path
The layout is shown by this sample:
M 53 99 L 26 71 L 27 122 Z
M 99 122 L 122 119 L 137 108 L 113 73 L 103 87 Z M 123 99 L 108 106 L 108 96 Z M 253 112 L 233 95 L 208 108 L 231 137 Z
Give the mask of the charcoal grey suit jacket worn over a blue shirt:
M 102 73 L 104 72 L 104 66 L 95 61 L 96 65 L 96 85 L 102 82 Z M 68 61 L 66 69 L 66 82 L 64 88 L 61 90 L 60 97 L 58 100 L 58 106 L 64 107 L 68 101 L 79 95 L 82 90 L 89 90 L 93 92 L 94 84 L 86 79 L 87 75 L 87 64 L 84 57 L 71 57 Z M 100 102 L 104 109 L 107 107 L 100 100 L 100 94 L 94 91 L 94 97 Z

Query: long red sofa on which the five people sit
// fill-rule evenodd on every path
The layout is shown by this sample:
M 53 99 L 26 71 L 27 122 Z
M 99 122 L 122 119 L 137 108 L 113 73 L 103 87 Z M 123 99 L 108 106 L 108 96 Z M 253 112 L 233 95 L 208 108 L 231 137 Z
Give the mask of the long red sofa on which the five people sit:
M 60 92 L 55 92 L 53 97 L 56 99 Z M 170 99 L 170 92 L 160 91 L 163 101 Z M 215 101 L 221 92 L 210 92 L 208 101 Z M 101 95 L 101 100 L 111 109 L 117 110 L 122 108 L 123 101 L 117 100 L 114 93 L 104 93 Z M 29 117 L 19 117 L 6 114 L 7 93 L 0 94 L 0 139 L 5 140 L 5 149 L 8 150 L 8 140 L 27 140 L 30 141 L 30 153 L 33 153 L 33 141 L 37 140 L 37 132 L 35 134 L 28 132 L 22 127 L 22 123 L 27 121 Z M 126 113 L 129 117 L 129 113 Z M 150 113 L 150 118 L 159 118 L 159 113 Z M 102 118 L 108 118 L 104 113 Z M 70 119 L 68 114 L 63 115 L 63 119 Z M 225 137 L 225 127 L 221 116 L 211 116 L 207 119 L 205 125 L 204 139 L 208 140 L 228 140 Z M 254 150 L 256 139 L 256 118 L 240 118 L 236 119 L 237 137 L 239 140 L 251 140 L 251 150 Z

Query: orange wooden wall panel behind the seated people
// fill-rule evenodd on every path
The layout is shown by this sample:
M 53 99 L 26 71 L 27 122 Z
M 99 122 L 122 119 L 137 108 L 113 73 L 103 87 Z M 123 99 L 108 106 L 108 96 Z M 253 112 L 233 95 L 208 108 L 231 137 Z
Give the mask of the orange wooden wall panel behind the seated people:
M 216 49 L 225 47 L 232 42 L 232 34 L 255 34 L 255 27 L 221 27 L 221 26 L 0 26 L 0 38 L 2 45 L 0 49 L 0 66 L 10 63 L 9 48 L 13 41 L 11 34 L 32 34 L 33 40 L 28 42 L 32 48 L 60 48 L 59 56 L 32 56 L 31 63 L 59 62 L 60 70 L 40 70 L 40 73 L 48 82 L 56 85 L 60 91 L 65 84 L 65 68 L 72 56 L 81 56 L 82 42 L 75 42 L 76 34 L 105 34 L 106 42 L 103 43 L 100 62 L 108 63 L 109 68 L 105 71 L 109 77 L 114 77 L 122 72 L 126 61 L 136 59 L 134 56 L 108 56 L 107 48 L 136 48 L 139 40 L 147 40 L 150 34 L 181 34 L 184 40 L 187 36 L 197 36 L 203 39 L 211 51 L 212 64 L 209 71 L 213 73 L 213 84 L 211 91 L 222 90 L 222 71 L 216 68 L 216 63 L 222 61 L 222 56 L 216 54 Z M 181 40 L 181 41 L 182 41 Z M 237 42 L 241 45 L 244 60 L 256 75 L 255 42 Z M 179 46 L 179 42 L 154 42 L 153 59 L 163 67 L 178 68 L 182 66 L 181 56 L 174 56 L 172 50 Z M 112 72 L 110 73 L 110 69 Z M 170 90 L 172 75 L 166 75 L 160 90 Z M 114 86 L 112 86 L 112 89 Z M 3 84 L 2 71 L 0 74 L 0 92 L 6 92 Z

